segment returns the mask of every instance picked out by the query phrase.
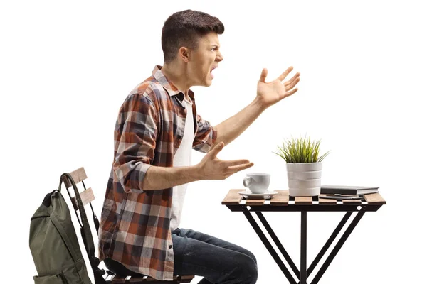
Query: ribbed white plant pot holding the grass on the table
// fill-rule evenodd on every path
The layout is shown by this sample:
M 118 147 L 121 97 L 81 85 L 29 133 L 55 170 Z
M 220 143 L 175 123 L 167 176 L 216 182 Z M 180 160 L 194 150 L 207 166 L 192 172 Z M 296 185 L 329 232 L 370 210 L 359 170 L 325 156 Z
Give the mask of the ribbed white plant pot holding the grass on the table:
M 320 195 L 322 163 L 286 163 L 290 196 Z

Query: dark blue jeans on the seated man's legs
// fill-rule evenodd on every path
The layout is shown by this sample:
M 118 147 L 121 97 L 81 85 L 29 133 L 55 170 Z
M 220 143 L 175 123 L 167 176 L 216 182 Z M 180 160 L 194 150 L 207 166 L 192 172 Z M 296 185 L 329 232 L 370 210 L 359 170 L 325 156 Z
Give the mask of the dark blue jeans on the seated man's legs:
M 172 231 L 174 275 L 199 275 L 199 284 L 254 284 L 256 258 L 247 249 L 191 229 Z

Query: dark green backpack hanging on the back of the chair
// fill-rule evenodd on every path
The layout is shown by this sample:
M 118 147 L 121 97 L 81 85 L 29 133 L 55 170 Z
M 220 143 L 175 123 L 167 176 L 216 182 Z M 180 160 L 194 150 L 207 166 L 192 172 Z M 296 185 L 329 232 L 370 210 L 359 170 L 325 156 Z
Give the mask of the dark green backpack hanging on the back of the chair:
M 88 222 L 82 212 L 80 217 L 83 224 Z M 38 272 L 35 284 L 92 284 L 60 186 L 46 195 L 31 217 L 30 249 Z

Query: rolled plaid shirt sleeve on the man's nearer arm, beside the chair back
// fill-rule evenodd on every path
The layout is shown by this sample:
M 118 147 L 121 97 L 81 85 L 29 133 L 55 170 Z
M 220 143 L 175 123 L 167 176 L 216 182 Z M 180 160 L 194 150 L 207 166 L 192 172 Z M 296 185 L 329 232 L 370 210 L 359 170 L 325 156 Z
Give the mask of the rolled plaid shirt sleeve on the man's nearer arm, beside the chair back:
M 157 121 L 154 104 L 143 94 L 130 95 L 120 109 L 114 171 L 125 192 L 144 192 L 142 181 L 154 159 Z

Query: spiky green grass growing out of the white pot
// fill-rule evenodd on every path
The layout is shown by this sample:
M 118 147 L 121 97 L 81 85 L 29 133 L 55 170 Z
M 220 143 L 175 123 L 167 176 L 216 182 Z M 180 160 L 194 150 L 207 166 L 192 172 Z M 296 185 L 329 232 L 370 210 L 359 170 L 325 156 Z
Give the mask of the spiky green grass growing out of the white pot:
M 320 140 L 310 141 L 310 136 L 283 141 L 282 146 L 278 146 L 279 153 L 273 152 L 283 158 L 286 163 L 320 163 L 330 153 L 319 157 Z

